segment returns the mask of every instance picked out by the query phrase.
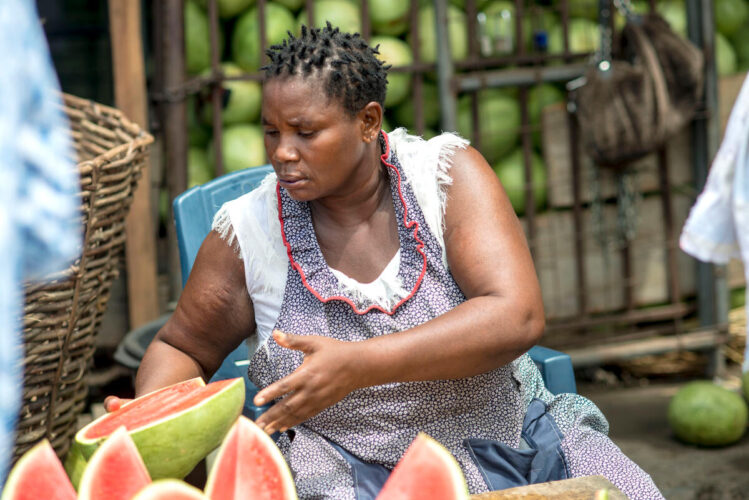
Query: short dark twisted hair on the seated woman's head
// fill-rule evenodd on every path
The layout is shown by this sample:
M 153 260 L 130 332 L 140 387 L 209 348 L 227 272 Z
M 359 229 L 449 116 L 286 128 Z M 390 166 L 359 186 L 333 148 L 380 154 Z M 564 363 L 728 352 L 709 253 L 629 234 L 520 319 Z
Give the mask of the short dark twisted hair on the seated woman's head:
M 379 45 L 370 47 L 359 33 L 341 32 L 330 22 L 324 28 L 302 26 L 299 37 L 288 34 L 265 52 L 270 63 L 260 69 L 266 82 L 282 75 L 306 78 L 318 71 L 325 94 L 339 99 L 350 115 L 372 101 L 384 107 L 390 66 L 377 58 Z

